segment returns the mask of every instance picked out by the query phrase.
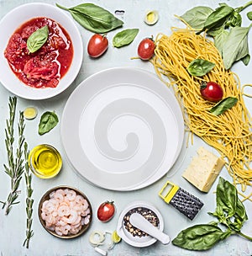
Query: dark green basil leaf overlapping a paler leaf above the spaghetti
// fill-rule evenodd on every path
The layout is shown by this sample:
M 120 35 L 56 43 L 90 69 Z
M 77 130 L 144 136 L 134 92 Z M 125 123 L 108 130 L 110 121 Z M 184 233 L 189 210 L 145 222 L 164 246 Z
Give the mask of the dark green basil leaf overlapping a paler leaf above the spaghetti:
M 216 8 L 215 11 L 207 17 L 204 27 L 197 34 L 200 34 L 206 29 L 220 28 L 233 12 L 234 8 L 228 5 L 221 5 L 219 8 Z

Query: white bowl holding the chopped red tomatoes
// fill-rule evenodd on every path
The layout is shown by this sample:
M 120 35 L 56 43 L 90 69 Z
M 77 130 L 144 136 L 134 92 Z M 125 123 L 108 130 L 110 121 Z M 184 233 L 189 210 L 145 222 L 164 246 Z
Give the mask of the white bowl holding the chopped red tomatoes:
M 18 27 L 29 19 L 35 17 L 47 17 L 58 22 L 67 33 L 71 36 L 74 47 L 74 56 L 66 75 L 60 79 L 60 83 L 56 88 L 31 88 L 22 83 L 15 76 L 8 61 L 4 57 L 4 50 L 8 45 L 8 40 Z M 83 46 L 79 30 L 76 24 L 66 13 L 60 8 L 46 3 L 27 3 L 14 8 L 0 21 L 0 82 L 11 93 L 18 95 L 24 99 L 49 99 L 68 88 L 76 78 L 82 64 Z

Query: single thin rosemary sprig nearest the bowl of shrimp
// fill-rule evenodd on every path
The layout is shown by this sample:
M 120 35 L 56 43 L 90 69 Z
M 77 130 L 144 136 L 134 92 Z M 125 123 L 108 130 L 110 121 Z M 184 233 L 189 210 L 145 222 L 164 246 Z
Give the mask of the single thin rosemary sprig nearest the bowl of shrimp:
M 32 199 L 32 194 L 34 190 L 31 187 L 31 181 L 32 181 L 32 175 L 30 173 L 29 169 L 29 163 L 28 163 L 28 157 L 29 157 L 29 150 L 27 147 L 27 143 L 24 142 L 24 159 L 25 159 L 25 165 L 24 165 L 24 177 L 25 177 L 25 184 L 26 184 L 26 238 L 24 240 L 23 246 L 26 245 L 26 248 L 29 248 L 29 240 L 34 235 L 34 232 L 32 230 L 32 224 L 33 224 L 33 204 L 34 200 Z

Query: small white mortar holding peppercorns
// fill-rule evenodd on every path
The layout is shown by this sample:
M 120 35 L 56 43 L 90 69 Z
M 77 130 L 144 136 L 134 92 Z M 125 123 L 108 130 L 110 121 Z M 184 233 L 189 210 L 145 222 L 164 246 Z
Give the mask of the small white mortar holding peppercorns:
M 151 244 L 155 243 L 157 239 L 154 237 L 146 236 L 146 237 L 137 237 L 133 236 L 124 226 L 124 221 L 123 217 L 132 209 L 134 208 L 139 208 L 139 207 L 144 207 L 147 209 L 150 209 L 155 213 L 155 215 L 159 219 L 159 226 L 158 229 L 162 232 L 164 230 L 164 220 L 163 216 L 161 216 L 160 211 L 158 211 L 154 205 L 150 205 L 148 202 L 144 201 L 135 201 L 132 202 L 130 205 L 126 206 L 126 208 L 121 212 L 119 218 L 118 218 L 118 227 L 117 227 L 117 232 L 118 236 L 122 237 L 123 241 L 126 243 L 129 243 L 130 245 L 134 247 L 147 247 L 150 246 Z

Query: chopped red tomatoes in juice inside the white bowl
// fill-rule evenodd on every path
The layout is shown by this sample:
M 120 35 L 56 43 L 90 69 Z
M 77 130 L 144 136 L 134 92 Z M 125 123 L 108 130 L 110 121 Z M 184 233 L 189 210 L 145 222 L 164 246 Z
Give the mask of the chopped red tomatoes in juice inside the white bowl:
M 26 42 L 37 29 L 48 26 L 45 44 L 29 53 Z M 69 67 L 73 57 L 71 38 L 66 30 L 52 19 L 35 18 L 22 24 L 8 40 L 4 51 L 15 75 L 33 88 L 55 88 Z

